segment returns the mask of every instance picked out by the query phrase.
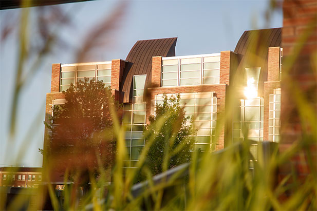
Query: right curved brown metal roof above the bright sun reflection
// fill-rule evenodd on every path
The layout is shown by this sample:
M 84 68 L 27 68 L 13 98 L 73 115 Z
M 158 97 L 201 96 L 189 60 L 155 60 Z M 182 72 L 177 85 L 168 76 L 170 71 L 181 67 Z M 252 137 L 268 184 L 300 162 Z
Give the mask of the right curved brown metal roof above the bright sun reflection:
M 241 84 L 241 76 L 244 77 L 245 68 L 261 67 L 259 76 L 259 93 L 263 90 L 264 81 L 267 81 L 268 48 L 278 47 L 282 44 L 282 28 L 260 29 L 245 31 L 234 52 L 238 54 L 239 64 L 234 75 L 233 84 Z

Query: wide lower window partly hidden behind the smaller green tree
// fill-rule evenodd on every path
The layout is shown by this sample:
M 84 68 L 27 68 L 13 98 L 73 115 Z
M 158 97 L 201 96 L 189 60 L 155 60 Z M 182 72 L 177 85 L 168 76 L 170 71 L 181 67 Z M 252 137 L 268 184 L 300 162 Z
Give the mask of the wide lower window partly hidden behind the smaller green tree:
M 168 94 L 167 96 L 175 95 Z M 152 103 L 151 112 L 155 112 L 155 105 L 163 102 L 163 95 L 158 94 Z M 197 129 L 195 136 L 195 149 L 202 151 L 215 150 L 212 142 L 217 120 L 217 98 L 214 92 L 181 93 L 180 106 L 184 108 L 186 116 L 193 117 L 194 127 Z M 191 124 L 191 121 L 187 121 Z

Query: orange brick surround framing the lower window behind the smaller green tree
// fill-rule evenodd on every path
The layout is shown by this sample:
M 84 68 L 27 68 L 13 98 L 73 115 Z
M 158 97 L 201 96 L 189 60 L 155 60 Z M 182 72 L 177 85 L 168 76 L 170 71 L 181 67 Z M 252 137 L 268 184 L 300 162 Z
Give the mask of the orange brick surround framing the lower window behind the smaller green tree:
M 152 75 L 153 77 L 153 75 Z M 151 88 L 151 99 L 155 99 L 157 94 L 168 94 L 168 93 L 189 93 L 189 92 L 207 92 L 214 91 L 217 97 L 217 120 L 221 119 L 225 114 L 226 105 L 226 89 L 228 85 L 199 85 L 199 86 L 178 86 L 178 87 L 160 87 Z M 146 122 L 148 122 L 148 117 L 151 114 L 151 105 L 147 104 L 146 110 Z M 219 140 L 216 143 L 216 150 L 225 147 L 225 125 L 220 126 Z

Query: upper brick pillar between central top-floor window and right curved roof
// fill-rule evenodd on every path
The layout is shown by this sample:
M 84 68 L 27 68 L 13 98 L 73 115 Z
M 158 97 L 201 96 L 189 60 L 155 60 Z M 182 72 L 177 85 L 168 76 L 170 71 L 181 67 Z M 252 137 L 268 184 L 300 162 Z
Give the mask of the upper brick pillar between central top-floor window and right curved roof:
M 230 74 L 237 68 L 237 54 L 232 51 L 220 52 L 220 84 L 228 84 Z

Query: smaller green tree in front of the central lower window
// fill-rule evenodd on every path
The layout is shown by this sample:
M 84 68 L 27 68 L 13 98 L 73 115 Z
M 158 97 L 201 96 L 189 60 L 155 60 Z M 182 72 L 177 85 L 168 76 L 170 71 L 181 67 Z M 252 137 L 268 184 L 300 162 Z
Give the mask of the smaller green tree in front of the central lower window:
M 180 96 L 168 98 L 164 95 L 162 104 L 156 105 L 155 115 L 149 117 L 145 128 L 145 140 L 154 136 L 146 164 L 153 175 L 173 168 L 191 159 L 193 149 L 194 129 L 192 124 L 187 125 L 190 117 L 185 117 L 185 111 L 179 105 Z M 163 119 L 161 127 L 156 127 L 157 121 Z

